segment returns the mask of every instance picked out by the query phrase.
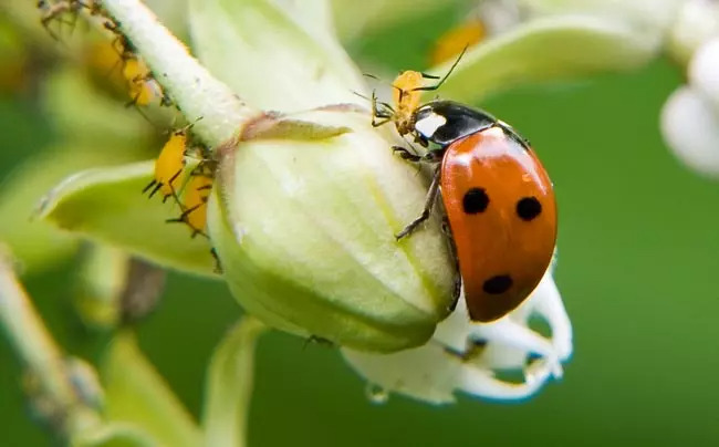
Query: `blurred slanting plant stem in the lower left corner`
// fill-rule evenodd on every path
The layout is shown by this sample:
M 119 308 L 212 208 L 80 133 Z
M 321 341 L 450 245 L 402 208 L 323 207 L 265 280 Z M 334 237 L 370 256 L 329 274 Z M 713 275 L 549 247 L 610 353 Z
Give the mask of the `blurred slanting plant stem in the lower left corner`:
M 42 398 L 51 404 L 53 413 L 62 416 L 65 433 L 71 436 L 96 425 L 98 415 L 77 396 L 64 354 L 44 326 L 14 274 L 10 257 L 1 247 L 0 325 L 28 372 L 38 381 Z

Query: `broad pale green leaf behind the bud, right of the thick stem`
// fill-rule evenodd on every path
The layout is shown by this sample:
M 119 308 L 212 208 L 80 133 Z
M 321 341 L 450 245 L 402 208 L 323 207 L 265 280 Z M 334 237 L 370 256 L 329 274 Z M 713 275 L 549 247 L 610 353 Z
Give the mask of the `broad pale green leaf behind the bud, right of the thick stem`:
M 356 102 L 366 89 L 359 71 L 327 30 L 324 8 L 269 0 L 191 0 L 196 52 L 249 104 L 302 111 Z M 285 2 L 290 3 L 290 2 Z M 316 14 L 311 20 L 311 13 Z M 320 24 L 317 24 L 320 23 Z

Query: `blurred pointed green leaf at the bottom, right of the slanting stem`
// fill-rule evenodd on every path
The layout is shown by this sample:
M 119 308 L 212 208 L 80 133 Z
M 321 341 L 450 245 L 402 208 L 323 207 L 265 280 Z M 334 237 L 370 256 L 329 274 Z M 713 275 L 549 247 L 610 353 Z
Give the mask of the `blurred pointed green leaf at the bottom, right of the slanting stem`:
M 137 426 L 158 445 L 200 445 L 201 433 L 195 420 L 139 351 L 132 332 L 122 332 L 112 342 L 101 377 L 110 420 Z

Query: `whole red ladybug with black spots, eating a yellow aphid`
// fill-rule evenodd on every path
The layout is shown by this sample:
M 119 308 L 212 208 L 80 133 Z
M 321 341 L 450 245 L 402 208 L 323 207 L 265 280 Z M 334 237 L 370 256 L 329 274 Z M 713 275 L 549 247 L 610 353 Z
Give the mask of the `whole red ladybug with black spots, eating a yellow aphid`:
M 407 80 L 405 73 L 398 80 Z M 384 117 L 400 135 L 429 147 L 419 156 L 395 146 L 404 159 L 437 164 L 421 215 L 396 237 L 417 229 L 440 194 L 469 316 L 491 322 L 521 304 L 552 261 L 558 228 L 552 181 L 529 142 L 483 111 L 433 101 L 407 114 L 403 101 L 414 101 L 417 90 L 400 92 L 394 108 L 376 113 L 375 107 L 374 114 L 389 115 Z

